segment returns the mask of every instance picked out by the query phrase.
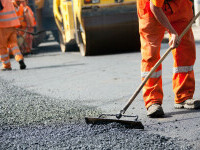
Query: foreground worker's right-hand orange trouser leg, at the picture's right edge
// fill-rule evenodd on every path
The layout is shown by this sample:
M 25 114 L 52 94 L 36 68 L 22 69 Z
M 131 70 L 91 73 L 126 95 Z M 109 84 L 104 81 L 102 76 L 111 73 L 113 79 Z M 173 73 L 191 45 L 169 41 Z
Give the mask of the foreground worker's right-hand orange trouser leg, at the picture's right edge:
M 189 22 L 173 23 L 173 27 L 180 34 Z M 182 103 L 193 98 L 195 78 L 193 66 L 196 59 L 195 41 L 190 29 L 182 38 L 177 49 L 172 51 L 174 57 L 173 90 L 175 103 Z

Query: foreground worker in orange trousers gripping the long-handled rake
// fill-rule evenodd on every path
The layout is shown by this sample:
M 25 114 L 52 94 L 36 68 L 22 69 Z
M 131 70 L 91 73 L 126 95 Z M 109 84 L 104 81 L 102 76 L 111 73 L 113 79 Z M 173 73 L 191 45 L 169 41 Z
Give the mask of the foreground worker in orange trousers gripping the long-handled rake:
M 160 47 L 165 31 L 169 32 L 172 50 L 173 91 L 176 109 L 200 108 L 200 100 L 194 100 L 195 78 L 193 66 L 196 59 L 195 41 L 192 29 L 178 40 L 178 35 L 193 18 L 190 0 L 138 0 L 139 32 L 141 41 L 141 76 L 147 76 L 160 59 Z M 151 75 L 143 88 L 147 116 L 162 117 L 163 89 L 162 65 Z

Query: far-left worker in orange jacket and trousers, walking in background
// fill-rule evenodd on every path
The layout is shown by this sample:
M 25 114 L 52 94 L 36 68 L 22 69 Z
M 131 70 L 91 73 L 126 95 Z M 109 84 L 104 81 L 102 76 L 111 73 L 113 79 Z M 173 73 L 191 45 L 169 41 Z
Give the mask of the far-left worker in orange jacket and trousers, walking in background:
M 11 70 L 11 63 L 7 46 L 12 47 L 12 54 L 20 64 L 20 69 L 25 69 L 23 55 L 17 44 L 17 32 L 15 27 L 20 25 L 19 19 L 11 0 L 1 0 L 3 9 L 0 10 L 0 60 L 3 71 Z

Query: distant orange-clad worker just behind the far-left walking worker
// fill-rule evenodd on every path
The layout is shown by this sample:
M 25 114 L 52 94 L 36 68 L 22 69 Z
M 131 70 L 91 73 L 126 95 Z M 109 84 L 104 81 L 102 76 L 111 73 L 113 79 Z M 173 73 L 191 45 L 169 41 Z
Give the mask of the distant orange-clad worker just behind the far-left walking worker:
M 21 39 L 23 40 L 20 44 L 20 49 L 23 54 L 29 54 L 31 53 L 32 49 L 33 35 L 27 32 L 34 31 L 34 27 L 36 26 L 35 17 L 33 11 L 28 6 L 27 0 L 15 0 L 15 1 L 16 3 L 14 3 L 14 6 L 21 23 L 19 29 L 25 31 L 25 32 L 18 31 L 18 36 L 21 37 Z

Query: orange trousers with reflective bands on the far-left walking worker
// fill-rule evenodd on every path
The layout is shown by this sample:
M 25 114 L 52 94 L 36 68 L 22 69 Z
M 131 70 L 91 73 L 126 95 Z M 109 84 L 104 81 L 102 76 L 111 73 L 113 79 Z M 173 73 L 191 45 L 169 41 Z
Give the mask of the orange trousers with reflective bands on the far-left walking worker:
M 15 27 L 0 28 L 0 60 L 3 68 L 11 68 L 7 47 L 11 48 L 16 61 L 23 60 L 23 56 L 17 45 L 17 33 Z

